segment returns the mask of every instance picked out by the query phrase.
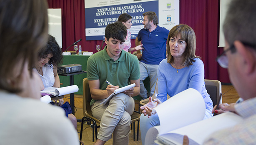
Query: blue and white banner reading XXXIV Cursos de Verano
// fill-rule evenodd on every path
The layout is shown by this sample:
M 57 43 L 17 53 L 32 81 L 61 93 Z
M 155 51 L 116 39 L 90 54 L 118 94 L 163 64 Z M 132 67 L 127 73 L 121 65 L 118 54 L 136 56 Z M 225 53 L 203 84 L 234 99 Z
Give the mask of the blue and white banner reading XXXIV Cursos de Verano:
M 168 30 L 179 24 L 179 0 L 85 0 L 86 40 L 103 40 L 105 27 L 115 23 L 119 15 L 132 16 L 131 39 L 144 28 L 143 13 L 153 11 L 158 25 Z

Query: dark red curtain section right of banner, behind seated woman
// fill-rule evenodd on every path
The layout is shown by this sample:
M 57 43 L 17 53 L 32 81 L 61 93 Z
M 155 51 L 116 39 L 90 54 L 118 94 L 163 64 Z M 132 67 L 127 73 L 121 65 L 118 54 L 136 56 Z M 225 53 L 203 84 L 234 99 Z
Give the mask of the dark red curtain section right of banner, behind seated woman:
M 215 60 L 223 51 L 218 48 L 219 3 L 219 0 L 180 0 L 180 23 L 191 26 L 196 33 L 196 55 L 203 60 L 205 78 L 230 82 L 227 70 Z

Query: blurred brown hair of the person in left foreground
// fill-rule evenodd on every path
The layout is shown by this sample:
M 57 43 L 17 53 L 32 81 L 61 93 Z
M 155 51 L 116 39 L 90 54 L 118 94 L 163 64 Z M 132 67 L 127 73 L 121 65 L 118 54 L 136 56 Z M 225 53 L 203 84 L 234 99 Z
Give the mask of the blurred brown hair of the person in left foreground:
M 12 78 L 18 62 L 24 65 L 28 61 L 32 68 L 38 50 L 46 45 L 47 7 L 46 0 L 0 0 L 0 89 L 20 91 L 8 79 Z

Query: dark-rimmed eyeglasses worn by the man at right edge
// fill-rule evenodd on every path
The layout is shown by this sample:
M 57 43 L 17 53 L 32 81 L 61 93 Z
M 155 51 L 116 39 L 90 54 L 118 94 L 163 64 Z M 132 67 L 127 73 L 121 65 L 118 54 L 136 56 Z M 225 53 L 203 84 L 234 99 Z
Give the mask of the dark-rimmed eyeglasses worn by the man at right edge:
M 255 48 L 255 45 L 252 45 L 252 44 L 249 44 L 249 43 L 246 43 L 246 42 L 242 42 L 243 45 L 246 45 L 246 46 L 249 46 L 249 47 L 252 47 L 252 48 Z M 227 50 L 223 51 L 221 53 L 221 55 L 218 55 L 216 57 L 216 61 L 218 62 L 218 64 L 223 67 L 223 68 L 228 68 L 228 57 L 226 55 L 226 52 L 228 52 L 229 50 L 231 50 L 231 52 L 235 52 L 236 51 L 236 48 L 235 46 L 232 44 Z

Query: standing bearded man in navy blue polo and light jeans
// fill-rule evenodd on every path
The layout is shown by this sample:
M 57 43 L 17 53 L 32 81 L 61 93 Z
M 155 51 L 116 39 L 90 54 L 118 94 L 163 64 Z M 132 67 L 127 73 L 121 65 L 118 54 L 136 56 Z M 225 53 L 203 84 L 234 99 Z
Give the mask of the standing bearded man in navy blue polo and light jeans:
M 141 29 L 136 37 L 136 46 L 143 44 L 144 49 L 137 51 L 140 61 L 140 96 L 146 99 L 152 96 L 156 87 L 157 70 L 159 63 L 166 58 L 166 40 L 169 30 L 158 26 L 158 18 L 155 12 L 143 13 L 144 29 Z M 150 94 L 144 87 L 143 80 L 150 79 Z

